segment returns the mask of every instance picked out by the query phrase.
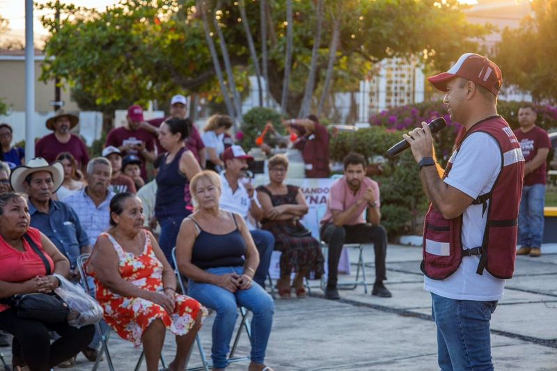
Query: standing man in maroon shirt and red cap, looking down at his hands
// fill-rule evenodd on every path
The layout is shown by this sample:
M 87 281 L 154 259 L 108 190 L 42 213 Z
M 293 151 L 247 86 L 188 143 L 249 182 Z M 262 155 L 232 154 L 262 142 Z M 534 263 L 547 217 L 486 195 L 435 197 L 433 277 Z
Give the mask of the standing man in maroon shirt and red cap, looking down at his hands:
M 143 109 L 133 105 L 127 109 L 127 125 L 112 129 L 107 136 L 104 147 L 113 145 L 120 150 L 122 156 L 136 155 L 141 159 L 141 177 L 147 181 L 146 161 L 155 161 L 155 139 L 146 129 L 141 128 Z

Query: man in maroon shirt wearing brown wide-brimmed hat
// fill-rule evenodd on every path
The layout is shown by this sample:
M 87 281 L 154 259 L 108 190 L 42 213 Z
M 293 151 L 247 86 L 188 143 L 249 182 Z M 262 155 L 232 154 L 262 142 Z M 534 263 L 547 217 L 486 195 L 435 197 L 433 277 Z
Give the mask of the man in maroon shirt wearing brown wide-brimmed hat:
M 70 152 L 77 161 L 78 168 L 86 173 L 86 166 L 89 162 L 87 147 L 79 136 L 70 133 L 77 123 L 79 123 L 77 116 L 65 113 L 63 109 L 56 111 L 46 123 L 47 128 L 54 130 L 54 133 L 48 134 L 36 143 L 36 157 L 42 157 L 52 164 L 61 152 Z

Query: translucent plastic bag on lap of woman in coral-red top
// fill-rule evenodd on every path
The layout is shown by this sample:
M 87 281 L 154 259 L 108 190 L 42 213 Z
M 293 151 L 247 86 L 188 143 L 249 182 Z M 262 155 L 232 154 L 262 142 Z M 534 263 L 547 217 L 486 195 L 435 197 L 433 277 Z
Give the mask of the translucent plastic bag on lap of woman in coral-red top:
M 102 319 L 102 307 L 81 288 L 81 286 L 71 283 L 63 276 L 56 274 L 60 279 L 60 286 L 56 287 L 56 294 L 68 304 L 70 314 L 68 324 L 77 327 L 95 324 Z

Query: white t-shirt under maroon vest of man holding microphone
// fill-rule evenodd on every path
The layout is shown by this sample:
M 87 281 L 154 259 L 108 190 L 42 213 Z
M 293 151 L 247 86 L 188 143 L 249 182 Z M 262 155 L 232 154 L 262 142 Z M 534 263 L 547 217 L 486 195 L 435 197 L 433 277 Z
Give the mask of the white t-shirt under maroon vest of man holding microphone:
M 459 152 L 453 154 L 453 167 L 444 182 L 476 198 L 492 189 L 500 169 L 499 144 L 489 134 L 476 132 L 466 138 Z M 470 205 L 464 210 L 462 246 L 465 249 L 482 246 L 487 221 L 487 212 L 483 216 L 482 212 L 483 205 Z M 483 275 L 476 274 L 479 262 L 479 255 L 464 257 L 457 271 L 444 280 L 424 277 L 423 288 L 455 300 L 500 300 L 505 280 L 495 278 L 485 269 Z

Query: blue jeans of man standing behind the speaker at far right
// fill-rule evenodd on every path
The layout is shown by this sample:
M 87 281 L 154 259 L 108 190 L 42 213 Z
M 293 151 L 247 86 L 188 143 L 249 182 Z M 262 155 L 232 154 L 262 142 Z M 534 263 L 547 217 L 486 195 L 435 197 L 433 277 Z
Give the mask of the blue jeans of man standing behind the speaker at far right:
M 544 235 L 545 184 L 522 188 L 518 214 L 518 244 L 528 247 L 542 246 Z

